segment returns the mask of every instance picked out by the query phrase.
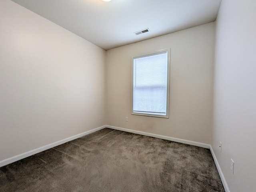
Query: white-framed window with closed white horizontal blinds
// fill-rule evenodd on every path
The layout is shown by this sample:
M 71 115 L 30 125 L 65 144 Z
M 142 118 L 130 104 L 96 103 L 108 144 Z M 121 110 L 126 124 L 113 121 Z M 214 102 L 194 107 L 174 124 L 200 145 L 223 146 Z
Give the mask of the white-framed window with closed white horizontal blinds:
M 170 51 L 133 58 L 132 114 L 169 116 Z

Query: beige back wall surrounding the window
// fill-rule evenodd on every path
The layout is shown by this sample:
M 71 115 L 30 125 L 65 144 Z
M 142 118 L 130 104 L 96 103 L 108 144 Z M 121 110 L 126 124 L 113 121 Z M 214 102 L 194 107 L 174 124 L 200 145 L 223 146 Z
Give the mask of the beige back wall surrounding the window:
M 210 144 L 214 46 L 213 22 L 108 50 L 107 124 Z M 165 48 L 171 49 L 169 118 L 131 115 L 132 56 Z

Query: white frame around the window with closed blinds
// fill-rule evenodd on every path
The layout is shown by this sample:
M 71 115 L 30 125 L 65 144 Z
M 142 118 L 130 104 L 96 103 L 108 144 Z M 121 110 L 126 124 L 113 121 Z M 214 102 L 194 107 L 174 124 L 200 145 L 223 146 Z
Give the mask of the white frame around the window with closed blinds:
M 150 55 L 154 55 L 154 54 L 158 54 L 161 52 L 167 52 L 167 90 L 166 90 L 166 115 L 155 115 L 155 114 L 147 114 L 147 113 L 136 113 L 133 110 L 133 78 L 134 78 L 134 59 L 136 58 L 142 58 L 142 57 L 146 57 L 146 56 L 150 56 Z M 154 51 L 154 52 L 150 52 L 150 53 L 146 53 L 146 54 L 140 54 L 137 56 L 132 56 L 132 115 L 141 115 L 141 116 L 150 116 L 150 117 L 160 117 L 160 118 L 169 118 L 169 100 L 170 100 L 170 48 L 168 49 L 161 49 L 158 51 Z

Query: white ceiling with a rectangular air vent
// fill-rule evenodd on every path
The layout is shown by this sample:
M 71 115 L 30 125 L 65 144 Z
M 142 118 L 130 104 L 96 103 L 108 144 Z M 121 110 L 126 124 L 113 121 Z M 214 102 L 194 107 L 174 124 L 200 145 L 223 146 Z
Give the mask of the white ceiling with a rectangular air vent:
M 221 0 L 12 0 L 108 50 L 216 20 Z M 134 32 L 149 28 L 136 36 Z

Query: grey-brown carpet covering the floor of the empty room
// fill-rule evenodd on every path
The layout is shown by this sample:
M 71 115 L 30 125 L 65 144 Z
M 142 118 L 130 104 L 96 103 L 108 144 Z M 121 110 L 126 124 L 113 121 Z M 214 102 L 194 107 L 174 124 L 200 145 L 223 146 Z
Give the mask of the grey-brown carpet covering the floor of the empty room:
M 1 192 L 224 192 L 210 150 L 105 128 L 0 168 Z

